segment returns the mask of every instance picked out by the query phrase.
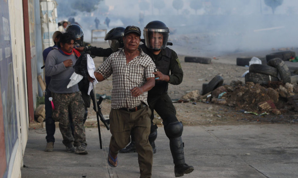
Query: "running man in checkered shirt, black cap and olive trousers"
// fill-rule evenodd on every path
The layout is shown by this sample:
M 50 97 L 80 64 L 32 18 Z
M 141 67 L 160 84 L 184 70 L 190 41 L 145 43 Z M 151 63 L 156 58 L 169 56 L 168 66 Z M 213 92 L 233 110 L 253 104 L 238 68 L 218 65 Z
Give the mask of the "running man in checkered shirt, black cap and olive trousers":
M 151 110 L 147 103 L 147 91 L 155 86 L 155 64 L 139 48 L 139 27 L 127 26 L 124 30 L 124 48 L 112 53 L 94 72 L 98 81 L 113 74 L 112 109 L 110 131 L 112 134 L 108 164 L 118 165 L 117 154 L 130 142 L 131 130 L 135 134 L 140 177 L 151 177 L 153 153 L 148 141 Z M 93 81 L 89 77 L 90 81 Z

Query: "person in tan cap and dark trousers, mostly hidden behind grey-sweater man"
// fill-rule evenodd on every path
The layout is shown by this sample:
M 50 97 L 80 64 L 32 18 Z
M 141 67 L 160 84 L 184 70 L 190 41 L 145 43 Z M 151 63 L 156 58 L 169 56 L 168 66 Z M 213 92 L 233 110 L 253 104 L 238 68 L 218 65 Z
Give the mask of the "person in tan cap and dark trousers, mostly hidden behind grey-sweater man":
M 51 50 L 53 50 L 54 48 L 58 47 L 57 43 L 59 41 L 61 34 L 62 33 L 60 31 L 56 31 L 52 37 L 54 45 L 43 50 L 42 56 L 43 56 L 44 62 L 46 61 L 46 58 L 47 58 L 49 52 Z M 45 147 L 46 152 L 52 152 L 54 150 L 54 142 L 55 142 L 54 134 L 56 131 L 55 121 L 52 118 L 52 105 L 49 100 L 49 98 L 51 97 L 51 91 L 49 91 L 49 89 L 48 89 L 50 80 L 51 80 L 51 77 L 45 76 L 45 130 L 46 130 L 46 134 L 47 134 L 45 136 L 45 139 L 47 141 L 47 146 Z

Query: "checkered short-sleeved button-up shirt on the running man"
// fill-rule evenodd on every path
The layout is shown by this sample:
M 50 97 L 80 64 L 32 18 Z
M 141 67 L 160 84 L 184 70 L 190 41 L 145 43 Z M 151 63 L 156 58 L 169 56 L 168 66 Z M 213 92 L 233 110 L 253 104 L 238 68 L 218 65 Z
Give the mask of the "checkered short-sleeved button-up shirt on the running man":
M 112 89 L 112 108 L 130 108 L 136 107 L 141 102 L 147 103 L 148 92 L 144 92 L 138 97 L 132 97 L 130 89 L 141 87 L 146 83 L 146 79 L 154 77 L 155 64 L 152 59 L 145 54 L 141 48 L 138 48 L 140 55 L 136 56 L 128 64 L 124 49 L 111 54 L 103 64 L 96 69 L 100 72 L 104 79 L 107 79 L 113 74 L 113 89 Z

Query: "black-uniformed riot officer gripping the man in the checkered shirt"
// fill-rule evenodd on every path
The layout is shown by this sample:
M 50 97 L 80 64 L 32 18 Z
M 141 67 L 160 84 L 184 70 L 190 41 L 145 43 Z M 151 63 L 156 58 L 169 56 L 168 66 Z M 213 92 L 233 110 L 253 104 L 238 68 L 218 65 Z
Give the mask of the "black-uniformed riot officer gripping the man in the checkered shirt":
M 168 84 L 178 85 L 182 82 L 183 71 L 180 60 L 172 49 L 167 47 L 169 28 L 161 21 L 151 21 L 144 28 L 145 44 L 140 45 L 143 52 L 148 54 L 156 65 L 155 87 L 148 91 L 148 104 L 151 109 L 151 133 L 149 142 L 153 152 L 156 152 L 155 139 L 157 126 L 153 125 L 154 110 L 163 119 L 164 130 L 170 140 L 170 149 L 174 160 L 176 177 L 183 176 L 194 170 L 193 166 L 185 163 L 182 142 L 183 125 L 176 117 L 176 110 L 171 98 L 167 94 Z M 170 73 L 171 72 L 171 73 Z M 134 152 L 133 135 L 130 145 L 120 153 Z

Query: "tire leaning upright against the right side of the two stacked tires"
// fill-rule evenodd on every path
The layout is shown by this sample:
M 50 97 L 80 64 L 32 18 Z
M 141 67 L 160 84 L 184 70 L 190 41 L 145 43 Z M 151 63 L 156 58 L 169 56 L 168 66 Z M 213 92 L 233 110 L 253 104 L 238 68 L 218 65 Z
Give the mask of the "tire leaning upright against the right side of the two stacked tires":
M 280 80 L 284 83 L 291 83 L 291 72 L 283 60 L 280 58 L 274 58 L 269 60 L 267 64 L 277 69 L 280 74 Z

